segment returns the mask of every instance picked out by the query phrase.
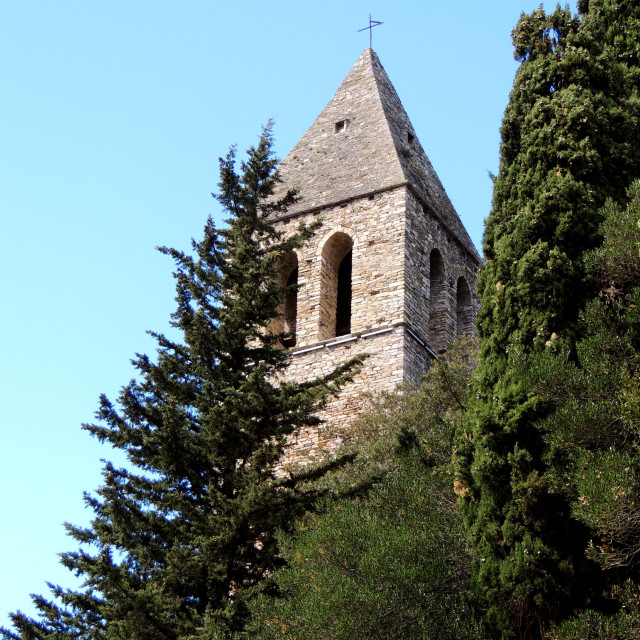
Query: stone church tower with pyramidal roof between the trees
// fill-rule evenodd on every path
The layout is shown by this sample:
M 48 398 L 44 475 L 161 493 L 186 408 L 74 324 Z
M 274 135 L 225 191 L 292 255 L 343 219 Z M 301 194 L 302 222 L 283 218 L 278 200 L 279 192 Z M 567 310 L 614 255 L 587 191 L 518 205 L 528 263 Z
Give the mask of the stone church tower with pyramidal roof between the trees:
M 323 416 L 346 425 L 367 392 L 418 383 L 457 334 L 475 331 L 480 257 L 372 49 L 280 171 L 301 198 L 276 225 L 322 220 L 281 274 L 300 285 L 282 319 L 295 332 L 288 375 L 309 379 L 368 353 Z M 326 441 L 310 429 L 288 457 Z

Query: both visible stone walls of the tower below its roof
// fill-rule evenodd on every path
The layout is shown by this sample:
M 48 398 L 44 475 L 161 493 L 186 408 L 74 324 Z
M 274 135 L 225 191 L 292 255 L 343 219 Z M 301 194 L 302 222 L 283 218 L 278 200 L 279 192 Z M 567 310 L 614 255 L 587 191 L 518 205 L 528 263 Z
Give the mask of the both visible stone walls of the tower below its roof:
M 338 434 L 340 428 L 348 428 L 366 410 L 372 395 L 405 383 L 419 384 L 435 354 L 458 331 L 460 278 L 468 283 L 471 299 L 474 296 L 475 257 L 406 186 L 294 214 L 276 224 L 293 233 L 301 220 L 317 218 L 322 227 L 297 252 L 296 346 L 286 376 L 305 381 L 331 372 L 355 355 L 369 357 L 354 382 L 322 412 L 326 425 L 296 434 L 283 464 L 307 461 L 322 447 L 336 448 L 340 443 L 336 427 Z M 328 280 L 337 277 L 336 263 L 351 243 L 351 334 L 335 337 L 327 329 L 331 324 L 327 318 L 335 314 Z M 433 249 L 439 251 L 444 271 L 439 293 L 443 312 L 435 338 L 430 327 Z M 466 316 L 462 324 L 468 326 Z

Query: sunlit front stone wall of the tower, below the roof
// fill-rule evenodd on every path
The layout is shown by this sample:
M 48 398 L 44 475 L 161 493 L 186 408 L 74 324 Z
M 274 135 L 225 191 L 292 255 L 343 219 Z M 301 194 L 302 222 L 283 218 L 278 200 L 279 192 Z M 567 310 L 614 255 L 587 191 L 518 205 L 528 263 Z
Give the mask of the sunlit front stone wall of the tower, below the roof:
M 362 415 L 370 394 L 394 391 L 403 383 L 405 210 L 406 189 L 400 187 L 276 223 L 285 233 L 293 233 L 301 221 L 322 220 L 316 235 L 297 252 L 296 346 L 287 378 L 310 380 L 355 355 L 368 354 L 363 371 L 322 412 L 326 426 L 296 434 L 285 464 L 306 461 L 321 447 L 335 449 L 340 439 L 334 427 L 347 428 Z M 336 273 L 326 264 L 332 252 L 325 249 L 337 239 L 337 255 L 342 256 L 345 236 L 353 242 L 351 334 L 335 337 L 327 334 L 326 317 L 335 314 L 335 300 L 323 296 L 327 290 L 323 277 Z

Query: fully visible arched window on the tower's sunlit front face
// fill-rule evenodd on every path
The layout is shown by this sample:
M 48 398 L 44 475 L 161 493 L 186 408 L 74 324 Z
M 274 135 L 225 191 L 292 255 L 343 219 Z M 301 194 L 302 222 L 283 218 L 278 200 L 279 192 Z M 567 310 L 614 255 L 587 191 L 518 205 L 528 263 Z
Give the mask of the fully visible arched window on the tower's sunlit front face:
M 342 231 L 322 248 L 318 337 L 328 340 L 351 333 L 351 249 L 353 241 Z

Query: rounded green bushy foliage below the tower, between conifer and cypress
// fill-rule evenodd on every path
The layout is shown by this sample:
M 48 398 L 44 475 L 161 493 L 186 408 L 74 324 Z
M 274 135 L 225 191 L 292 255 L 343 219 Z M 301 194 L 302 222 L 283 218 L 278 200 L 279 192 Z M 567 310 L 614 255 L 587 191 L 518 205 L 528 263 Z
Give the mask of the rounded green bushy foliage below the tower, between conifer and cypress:
M 352 432 L 343 469 L 371 491 L 327 499 L 295 538 L 275 580 L 287 595 L 255 617 L 256 638 L 481 640 L 469 597 L 471 558 L 452 490 L 451 447 L 463 412 L 473 345 L 430 369 L 419 390 L 388 395 Z

